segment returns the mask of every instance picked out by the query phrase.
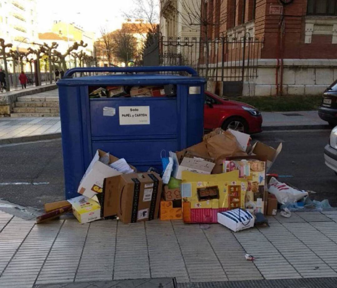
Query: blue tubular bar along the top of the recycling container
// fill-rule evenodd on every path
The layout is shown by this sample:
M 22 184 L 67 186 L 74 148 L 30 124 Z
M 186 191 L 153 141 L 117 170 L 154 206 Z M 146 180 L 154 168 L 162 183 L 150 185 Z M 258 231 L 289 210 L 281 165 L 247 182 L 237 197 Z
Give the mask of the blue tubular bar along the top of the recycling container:
M 193 68 L 188 66 L 145 66 L 145 67 L 75 67 L 67 70 L 64 77 L 70 77 L 75 72 L 181 72 L 185 71 L 191 76 L 198 76 Z

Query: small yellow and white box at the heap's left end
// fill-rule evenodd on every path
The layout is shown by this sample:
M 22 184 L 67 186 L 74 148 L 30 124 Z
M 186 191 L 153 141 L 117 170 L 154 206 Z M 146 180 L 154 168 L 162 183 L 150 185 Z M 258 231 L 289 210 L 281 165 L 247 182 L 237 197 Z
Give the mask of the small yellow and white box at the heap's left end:
M 72 213 L 81 224 L 100 219 L 101 206 L 86 196 L 78 196 L 69 199 L 72 205 Z

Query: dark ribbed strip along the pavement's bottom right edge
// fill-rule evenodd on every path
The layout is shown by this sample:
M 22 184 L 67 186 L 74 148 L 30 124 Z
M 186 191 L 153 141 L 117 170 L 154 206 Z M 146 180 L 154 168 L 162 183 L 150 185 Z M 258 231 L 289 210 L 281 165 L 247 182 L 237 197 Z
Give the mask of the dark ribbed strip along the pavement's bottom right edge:
M 248 280 L 227 282 L 179 283 L 178 288 L 336 288 L 337 278 Z

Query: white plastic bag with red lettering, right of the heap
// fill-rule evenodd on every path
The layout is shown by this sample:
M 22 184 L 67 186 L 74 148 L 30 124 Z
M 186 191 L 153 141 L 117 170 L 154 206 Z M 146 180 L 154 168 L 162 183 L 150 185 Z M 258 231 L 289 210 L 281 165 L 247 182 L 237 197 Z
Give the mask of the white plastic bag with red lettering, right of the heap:
M 274 194 L 277 198 L 277 202 L 281 204 L 294 203 L 301 200 L 304 196 L 308 196 L 307 191 L 297 190 L 285 183 L 277 181 L 274 177 L 269 181 L 268 191 Z

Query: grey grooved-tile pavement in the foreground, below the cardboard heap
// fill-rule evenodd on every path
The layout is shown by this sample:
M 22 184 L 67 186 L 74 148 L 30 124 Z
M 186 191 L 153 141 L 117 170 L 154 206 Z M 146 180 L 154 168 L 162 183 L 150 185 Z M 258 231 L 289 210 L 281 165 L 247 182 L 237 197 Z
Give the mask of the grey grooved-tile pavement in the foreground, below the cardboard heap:
M 218 225 L 75 219 L 36 225 L 0 212 L 0 287 L 176 277 L 178 283 L 337 277 L 337 211 Z M 244 258 L 256 257 L 251 262 Z

